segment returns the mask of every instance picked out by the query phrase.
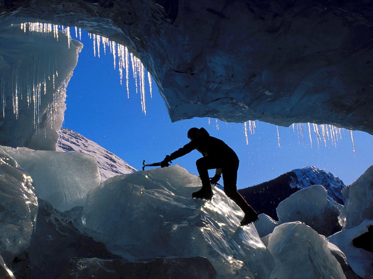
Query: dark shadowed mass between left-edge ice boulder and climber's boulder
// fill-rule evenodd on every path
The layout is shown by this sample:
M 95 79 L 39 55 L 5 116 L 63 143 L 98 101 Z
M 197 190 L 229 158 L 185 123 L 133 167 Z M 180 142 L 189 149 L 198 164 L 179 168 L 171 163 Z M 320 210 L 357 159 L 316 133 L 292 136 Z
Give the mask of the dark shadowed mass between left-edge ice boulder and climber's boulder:
M 104 244 L 66 224 L 61 212 L 49 202 L 38 202 L 37 223 L 29 247 L 32 278 L 57 278 L 72 257 L 120 258 L 107 251 Z

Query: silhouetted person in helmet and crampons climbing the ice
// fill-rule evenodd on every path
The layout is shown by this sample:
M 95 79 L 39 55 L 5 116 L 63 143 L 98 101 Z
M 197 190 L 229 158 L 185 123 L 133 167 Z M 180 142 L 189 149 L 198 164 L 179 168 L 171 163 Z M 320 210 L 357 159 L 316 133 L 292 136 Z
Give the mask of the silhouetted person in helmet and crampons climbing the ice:
M 223 174 L 225 194 L 245 213 L 240 225 L 244 226 L 257 221 L 258 214 L 237 192 L 236 183 L 239 160 L 232 148 L 226 145 L 224 141 L 211 137 L 204 128 L 189 129 L 188 138 L 191 140 L 188 144 L 171 153 L 171 155 L 166 155 L 161 162 L 161 167 L 167 167 L 170 161 L 197 149 L 203 155 L 202 158 L 195 162 L 200 174 L 202 189 L 194 192 L 192 198 L 211 200 L 213 196 L 211 185 L 216 185 L 220 175 Z M 210 180 L 208 170 L 211 169 L 216 169 L 216 173 Z

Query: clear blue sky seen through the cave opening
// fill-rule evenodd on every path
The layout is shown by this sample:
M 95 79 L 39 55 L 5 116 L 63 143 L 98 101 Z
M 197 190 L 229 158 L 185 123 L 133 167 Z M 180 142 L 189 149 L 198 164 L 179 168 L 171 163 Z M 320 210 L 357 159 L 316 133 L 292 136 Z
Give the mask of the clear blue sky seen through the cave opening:
M 72 32 L 75 39 L 75 32 Z M 114 70 L 112 55 L 93 55 L 93 42 L 82 31 L 84 48 L 79 54 L 78 65 L 67 88 L 67 109 L 63 127 L 72 129 L 115 153 L 117 156 L 141 169 L 142 160 L 153 163 L 163 160 L 184 144 L 188 143 L 186 133 L 191 127 L 204 127 L 213 137 L 225 141 L 235 150 L 240 160 L 238 189 L 252 186 L 279 176 L 292 169 L 316 166 L 338 176 L 346 185 L 357 179 L 372 165 L 373 136 L 354 131 L 356 157 L 348 131 L 335 148 L 331 141 L 317 147 L 313 134 L 313 147 L 305 134 L 298 144 L 298 134 L 292 129 L 279 126 L 278 146 L 275 125 L 256 122 L 255 135 L 249 134 L 246 145 L 243 124 L 195 118 L 171 123 L 164 101 L 153 82 L 153 98 L 146 87 L 146 116 L 141 111 L 140 95 L 135 93 L 135 83 L 130 72 L 130 97 L 126 87 L 120 85 L 119 71 Z M 125 83 L 124 83 L 125 84 Z M 296 130 L 295 130 L 296 131 Z M 308 132 L 308 130 L 307 130 Z M 198 151 L 185 155 L 174 164 L 197 174 L 195 161 L 201 155 Z M 211 171 L 213 173 L 213 171 Z

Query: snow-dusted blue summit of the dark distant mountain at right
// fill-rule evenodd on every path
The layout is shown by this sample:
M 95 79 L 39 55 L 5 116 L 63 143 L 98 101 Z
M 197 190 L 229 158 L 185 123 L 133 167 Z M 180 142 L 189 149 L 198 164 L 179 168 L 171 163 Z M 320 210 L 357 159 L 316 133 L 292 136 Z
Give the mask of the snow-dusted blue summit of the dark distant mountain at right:
M 289 186 L 294 188 L 306 188 L 312 185 L 322 185 L 327 190 L 328 196 L 334 201 L 344 204 L 345 200 L 342 196 L 342 189 L 346 187 L 341 179 L 334 176 L 325 170 L 318 169 L 314 166 L 305 167 L 303 169 L 292 170 L 296 177 L 293 177 Z

